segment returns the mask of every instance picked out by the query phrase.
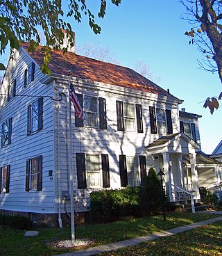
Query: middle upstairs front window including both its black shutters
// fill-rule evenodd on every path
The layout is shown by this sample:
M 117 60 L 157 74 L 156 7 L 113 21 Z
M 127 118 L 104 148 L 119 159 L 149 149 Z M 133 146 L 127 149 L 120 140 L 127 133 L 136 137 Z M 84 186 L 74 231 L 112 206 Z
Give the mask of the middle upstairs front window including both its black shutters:
M 142 105 L 117 101 L 117 130 L 143 132 Z

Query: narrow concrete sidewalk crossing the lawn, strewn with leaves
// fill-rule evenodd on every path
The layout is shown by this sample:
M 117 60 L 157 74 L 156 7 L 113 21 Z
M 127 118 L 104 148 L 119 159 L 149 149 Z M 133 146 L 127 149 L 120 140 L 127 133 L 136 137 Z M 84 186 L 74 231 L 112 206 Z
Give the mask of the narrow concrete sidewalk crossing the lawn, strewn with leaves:
M 222 215 L 222 211 L 201 211 L 202 213 L 211 213 L 211 214 L 221 214 Z M 192 223 L 189 225 L 185 225 L 182 227 L 175 227 L 171 230 L 164 230 L 161 232 L 156 232 L 153 234 L 148 234 L 147 236 L 143 236 L 143 237 L 136 237 L 133 239 L 128 239 L 128 240 L 124 240 L 124 241 L 119 241 L 116 243 L 109 243 L 103 246 L 96 246 L 96 247 L 91 247 L 91 248 L 87 248 L 85 250 L 78 250 L 75 252 L 70 252 L 70 253 L 64 253 L 64 254 L 60 254 L 60 255 L 56 255 L 56 256 L 89 256 L 89 255 L 96 255 L 98 253 L 103 253 L 103 252 L 109 252 L 111 250 L 117 250 L 126 246 L 136 246 L 139 243 L 145 242 L 145 241 L 152 241 L 155 240 L 157 238 L 160 237 L 169 237 L 172 236 L 173 234 L 178 234 L 178 233 L 182 233 L 185 231 L 189 231 L 192 230 L 196 227 L 200 227 L 203 225 L 208 225 L 211 223 L 214 223 L 216 221 L 222 221 L 222 216 L 219 216 L 217 218 L 211 218 L 209 220 L 205 220 L 205 221 L 200 221 L 197 223 Z

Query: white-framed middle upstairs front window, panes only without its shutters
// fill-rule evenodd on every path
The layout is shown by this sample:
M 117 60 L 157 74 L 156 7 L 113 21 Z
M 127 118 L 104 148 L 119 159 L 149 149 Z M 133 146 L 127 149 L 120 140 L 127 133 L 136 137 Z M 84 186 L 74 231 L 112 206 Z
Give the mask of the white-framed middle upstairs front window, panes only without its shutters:
M 128 111 L 128 108 L 132 108 Z M 135 104 L 123 102 L 123 117 L 125 131 L 136 131 Z M 129 123 L 129 125 L 128 125 Z

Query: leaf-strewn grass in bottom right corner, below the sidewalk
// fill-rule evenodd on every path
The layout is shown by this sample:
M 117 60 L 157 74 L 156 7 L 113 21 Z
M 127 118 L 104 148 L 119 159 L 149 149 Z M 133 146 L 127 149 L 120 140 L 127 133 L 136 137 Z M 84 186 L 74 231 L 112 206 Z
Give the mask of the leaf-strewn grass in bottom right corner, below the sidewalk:
M 220 256 L 222 255 L 222 222 L 205 225 L 194 230 L 140 243 L 100 256 Z

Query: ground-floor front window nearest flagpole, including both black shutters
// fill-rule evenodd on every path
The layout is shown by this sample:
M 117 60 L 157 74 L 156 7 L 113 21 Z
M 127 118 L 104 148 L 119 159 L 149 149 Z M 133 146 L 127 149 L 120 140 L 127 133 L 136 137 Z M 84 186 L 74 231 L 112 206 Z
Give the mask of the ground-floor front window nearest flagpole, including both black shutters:
M 78 189 L 110 187 L 108 154 L 76 153 Z

